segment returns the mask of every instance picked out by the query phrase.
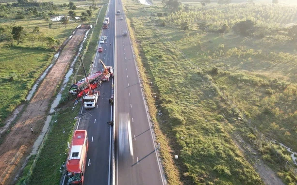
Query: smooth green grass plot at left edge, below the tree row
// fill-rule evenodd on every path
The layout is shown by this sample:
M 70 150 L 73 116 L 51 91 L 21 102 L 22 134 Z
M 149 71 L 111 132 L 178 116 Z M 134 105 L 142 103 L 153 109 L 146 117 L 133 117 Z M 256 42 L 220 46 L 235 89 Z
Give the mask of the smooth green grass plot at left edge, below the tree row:
M 53 53 L 48 50 L 34 48 L 0 49 L 0 93 L 6 94 L 0 98 L 1 126 L 14 108 L 25 100 L 35 79 L 47 68 L 52 56 Z

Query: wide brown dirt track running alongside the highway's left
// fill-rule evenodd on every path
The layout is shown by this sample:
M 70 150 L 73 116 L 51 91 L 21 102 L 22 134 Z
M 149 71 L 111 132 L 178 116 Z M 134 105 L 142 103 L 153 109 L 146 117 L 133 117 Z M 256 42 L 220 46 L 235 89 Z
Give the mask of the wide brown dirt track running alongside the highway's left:
M 66 69 L 88 29 L 88 25 L 77 29 L 61 51 L 57 62 L 39 85 L 30 104 L 0 145 L 0 185 L 11 183 L 25 157 L 31 152 L 33 143 L 44 125 L 49 110 L 49 101 L 54 95 L 57 85 L 63 80 Z M 33 134 L 31 127 L 33 127 Z

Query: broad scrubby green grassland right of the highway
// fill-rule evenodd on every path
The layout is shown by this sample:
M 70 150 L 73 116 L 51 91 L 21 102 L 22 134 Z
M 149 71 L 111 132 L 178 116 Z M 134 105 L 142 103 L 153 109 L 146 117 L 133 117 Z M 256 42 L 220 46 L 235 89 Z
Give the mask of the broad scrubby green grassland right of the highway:
M 181 183 L 264 184 L 236 135 L 295 185 L 296 165 L 279 143 L 297 151 L 296 7 L 202 9 L 169 0 L 152 7 L 126 1 L 125 8 L 172 148 L 163 160 L 179 155 Z M 180 184 L 166 165 L 165 172 L 169 184 Z

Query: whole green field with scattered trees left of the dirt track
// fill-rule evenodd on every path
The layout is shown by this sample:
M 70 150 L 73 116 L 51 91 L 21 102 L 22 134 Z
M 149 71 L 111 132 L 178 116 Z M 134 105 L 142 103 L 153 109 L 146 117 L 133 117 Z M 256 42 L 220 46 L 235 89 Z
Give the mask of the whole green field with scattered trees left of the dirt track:
M 25 100 L 66 38 L 78 25 L 93 21 L 98 12 L 94 3 L 97 0 L 85 2 L 87 6 L 66 0 L 59 4 L 27 0 L 0 4 L 0 93 L 6 94 L 1 98 L 0 127 Z M 51 20 L 59 15 L 62 20 Z

